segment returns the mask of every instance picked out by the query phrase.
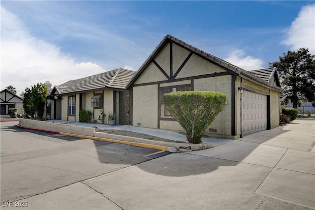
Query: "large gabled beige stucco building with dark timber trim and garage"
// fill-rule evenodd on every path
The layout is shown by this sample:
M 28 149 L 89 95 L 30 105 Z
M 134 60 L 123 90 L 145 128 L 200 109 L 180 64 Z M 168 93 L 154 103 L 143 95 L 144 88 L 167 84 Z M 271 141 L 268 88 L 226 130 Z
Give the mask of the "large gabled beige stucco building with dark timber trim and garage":
M 165 109 L 163 94 L 206 90 L 227 95 L 227 104 L 206 129 L 207 135 L 236 139 L 275 128 L 283 90 L 276 69 L 270 74 L 269 70 L 255 75 L 166 35 L 126 87 L 132 92 L 132 125 L 183 130 Z

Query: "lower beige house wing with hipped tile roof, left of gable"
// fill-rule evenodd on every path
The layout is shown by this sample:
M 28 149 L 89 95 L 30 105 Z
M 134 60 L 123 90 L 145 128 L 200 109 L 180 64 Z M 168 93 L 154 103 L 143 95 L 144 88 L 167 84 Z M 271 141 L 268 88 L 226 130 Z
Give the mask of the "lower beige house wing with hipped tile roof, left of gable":
M 90 110 L 97 120 L 100 111 L 117 115 L 118 124 L 130 124 L 129 91 L 126 84 L 135 71 L 118 68 L 70 80 L 48 91 L 46 118 L 79 121 L 79 111 Z

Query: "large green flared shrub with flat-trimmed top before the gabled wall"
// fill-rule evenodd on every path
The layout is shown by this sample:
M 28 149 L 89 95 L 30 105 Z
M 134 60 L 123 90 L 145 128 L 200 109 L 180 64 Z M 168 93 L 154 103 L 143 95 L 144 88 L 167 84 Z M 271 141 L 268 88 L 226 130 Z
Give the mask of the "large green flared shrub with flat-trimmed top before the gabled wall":
M 163 95 L 169 111 L 186 131 L 189 143 L 201 143 L 206 128 L 216 119 L 226 103 L 226 95 L 210 91 L 178 91 Z

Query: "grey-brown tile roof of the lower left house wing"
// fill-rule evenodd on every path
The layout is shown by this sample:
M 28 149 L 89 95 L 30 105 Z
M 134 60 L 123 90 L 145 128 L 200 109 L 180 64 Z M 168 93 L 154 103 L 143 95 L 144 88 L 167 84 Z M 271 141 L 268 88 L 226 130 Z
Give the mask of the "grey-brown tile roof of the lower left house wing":
M 125 90 L 126 84 L 134 74 L 135 71 L 118 68 L 92 76 L 70 80 L 62 85 L 54 86 L 54 88 L 48 91 L 48 95 L 54 90 L 57 91 L 57 94 L 59 95 L 101 90 L 105 88 Z

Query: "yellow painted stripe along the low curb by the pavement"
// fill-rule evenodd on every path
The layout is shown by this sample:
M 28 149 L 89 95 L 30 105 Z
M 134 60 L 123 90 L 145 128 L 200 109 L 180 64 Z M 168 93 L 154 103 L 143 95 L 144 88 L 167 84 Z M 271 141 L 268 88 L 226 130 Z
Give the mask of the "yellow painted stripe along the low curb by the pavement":
M 127 141 L 122 141 L 122 140 L 106 139 L 106 138 L 101 138 L 101 137 L 84 136 L 84 135 L 78 135 L 78 134 L 72 134 L 72 133 L 63 133 L 63 132 L 60 132 L 59 134 L 65 135 L 65 136 L 73 136 L 73 137 L 84 138 L 84 139 L 92 139 L 92 140 L 103 141 L 103 142 L 119 143 L 119 144 L 124 144 L 124 145 L 135 146 L 135 147 L 142 147 L 142 148 L 166 151 L 166 147 L 160 146 L 160 145 L 151 145 L 151 144 L 137 143 L 137 142 L 127 142 Z

